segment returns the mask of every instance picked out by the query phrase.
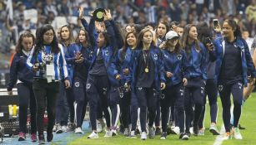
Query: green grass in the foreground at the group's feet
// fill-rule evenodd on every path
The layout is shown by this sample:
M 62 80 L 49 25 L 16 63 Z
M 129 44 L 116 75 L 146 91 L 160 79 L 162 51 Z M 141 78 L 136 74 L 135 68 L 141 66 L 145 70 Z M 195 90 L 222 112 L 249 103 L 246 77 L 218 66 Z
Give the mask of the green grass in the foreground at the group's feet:
M 243 127 L 246 128 L 246 130 L 241 130 L 241 133 L 243 135 L 243 140 L 235 140 L 231 139 L 228 141 L 223 141 L 223 145 L 243 145 L 243 144 L 256 144 L 256 94 L 253 94 L 251 98 L 248 99 L 248 101 L 243 106 L 242 110 L 242 118 L 240 119 L 240 123 L 243 125 Z M 208 105 L 208 104 L 207 104 Z M 87 139 L 86 137 L 89 135 L 89 133 L 86 133 L 83 138 L 78 138 L 72 143 L 69 143 L 71 145 L 75 144 L 84 144 L 84 145 L 163 145 L 163 144 L 182 144 L 182 145 L 212 145 L 216 139 L 216 136 L 213 136 L 211 133 L 209 133 L 209 107 L 207 106 L 207 113 L 205 116 L 205 122 L 204 126 L 206 128 L 205 135 L 194 137 L 193 135 L 191 138 L 189 138 L 188 141 L 182 141 L 178 139 L 178 135 L 169 135 L 166 140 L 160 140 L 160 136 L 156 136 L 154 139 L 147 139 L 146 141 L 140 140 L 140 137 L 138 138 L 125 138 L 122 135 L 118 135 L 117 137 L 113 138 L 104 138 L 103 133 L 99 134 L 98 139 Z M 222 121 L 222 108 L 220 99 L 218 98 L 218 128 L 220 129 L 223 125 Z

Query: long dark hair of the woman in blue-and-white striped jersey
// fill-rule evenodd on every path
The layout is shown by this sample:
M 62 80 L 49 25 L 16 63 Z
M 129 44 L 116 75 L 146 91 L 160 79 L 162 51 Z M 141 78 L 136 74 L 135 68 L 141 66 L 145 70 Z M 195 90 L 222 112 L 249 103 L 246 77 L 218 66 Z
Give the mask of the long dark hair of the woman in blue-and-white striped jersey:
M 42 50 L 44 44 L 43 44 L 43 35 L 46 31 L 49 30 L 53 30 L 53 27 L 49 24 L 44 25 L 43 27 L 41 27 L 38 30 L 38 34 L 37 34 L 37 39 L 36 39 L 36 46 L 35 46 L 35 51 L 33 53 L 33 56 L 37 56 L 38 52 Z M 53 30 L 53 41 L 50 44 L 51 46 L 51 51 L 53 51 L 53 53 L 58 53 L 60 51 L 59 47 L 58 47 L 58 40 L 57 40 L 57 36 L 55 34 L 55 31 Z

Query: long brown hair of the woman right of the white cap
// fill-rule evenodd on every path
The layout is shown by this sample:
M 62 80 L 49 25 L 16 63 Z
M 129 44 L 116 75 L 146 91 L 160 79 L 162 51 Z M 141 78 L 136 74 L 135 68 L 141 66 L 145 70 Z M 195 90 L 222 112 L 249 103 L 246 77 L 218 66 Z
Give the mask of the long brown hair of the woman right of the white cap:
M 191 52 L 191 46 L 188 46 L 188 35 L 191 27 L 196 27 L 193 24 L 188 24 L 184 27 L 183 36 L 181 37 L 181 47 L 189 54 Z M 199 41 L 195 41 L 196 50 L 200 51 L 200 44 Z

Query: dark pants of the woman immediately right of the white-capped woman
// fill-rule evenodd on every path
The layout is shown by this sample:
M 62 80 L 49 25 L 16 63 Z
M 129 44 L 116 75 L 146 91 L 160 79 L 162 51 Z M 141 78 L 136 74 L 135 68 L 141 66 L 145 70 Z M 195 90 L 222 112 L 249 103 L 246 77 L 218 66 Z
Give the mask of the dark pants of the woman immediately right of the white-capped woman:
M 189 131 L 191 121 L 193 125 L 198 126 L 199 118 L 203 111 L 204 82 L 201 78 L 193 78 L 188 80 L 185 88 L 185 114 L 186 114 L 186 132 Z M 194 116 L 193 114 L 194 106 Z

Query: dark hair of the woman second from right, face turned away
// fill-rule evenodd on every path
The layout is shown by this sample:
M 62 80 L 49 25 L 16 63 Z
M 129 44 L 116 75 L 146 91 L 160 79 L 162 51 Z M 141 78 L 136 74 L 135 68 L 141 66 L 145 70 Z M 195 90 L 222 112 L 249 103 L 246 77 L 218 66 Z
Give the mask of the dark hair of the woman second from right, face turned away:
M 198 30 L 198 40 L 203 43 L 204 46 L 206 46 L 206 38 L 212 38 L 212 33 L 210 30 L 210 27 L 208 27 L 208 24 L 206 22 L 199 22 L 197 25 Z

